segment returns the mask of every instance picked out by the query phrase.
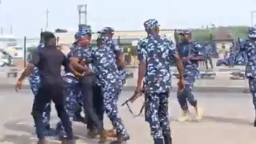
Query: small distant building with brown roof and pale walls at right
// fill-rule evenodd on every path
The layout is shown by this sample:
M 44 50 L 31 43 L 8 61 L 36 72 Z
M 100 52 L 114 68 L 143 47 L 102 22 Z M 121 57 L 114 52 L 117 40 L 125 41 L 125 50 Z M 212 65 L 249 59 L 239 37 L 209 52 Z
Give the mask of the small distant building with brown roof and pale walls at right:
M 216 32 L 214 37 L 214 42 L 216 44 L 217 52 L 229 51 L 232 45 L 233 37 L 230 32 L 226 30 L 220 30 Z

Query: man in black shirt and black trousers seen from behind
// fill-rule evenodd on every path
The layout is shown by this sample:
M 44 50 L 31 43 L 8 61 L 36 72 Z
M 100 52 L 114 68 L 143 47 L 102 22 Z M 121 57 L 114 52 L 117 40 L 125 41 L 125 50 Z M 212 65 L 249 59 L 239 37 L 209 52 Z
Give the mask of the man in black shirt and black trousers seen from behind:
M 31 113 L 35 121 L 37 136 L 39 138 L 38 144 L 47 143 L 45 140 L 42 114 L 45 105 L 51 102 L 51 100 L 55 103 L 57 115 L 61 119 L 67 133 L 67 139 L 64 140 L 63 143 L 75 143 L 73 140 L 72 124 L 65 110 L 65 95 L 63 94 L 64 86 L 60 75 L 61 64 L 66 68 L 70 67 L 69 60 L 57 49 L 56 37 L 53 33 L 49 32 L 45 35 L 44 49 L 38 49 L 38 51 L 32 55 L 32 59 L 28 63 L 25 72 L 16 83 L 16 89 L 21 88 L 23 79 L 33 71 L 35 66 L 38 67 L 41 81 Z M 72 67 L 70 68 L 74 71 Z

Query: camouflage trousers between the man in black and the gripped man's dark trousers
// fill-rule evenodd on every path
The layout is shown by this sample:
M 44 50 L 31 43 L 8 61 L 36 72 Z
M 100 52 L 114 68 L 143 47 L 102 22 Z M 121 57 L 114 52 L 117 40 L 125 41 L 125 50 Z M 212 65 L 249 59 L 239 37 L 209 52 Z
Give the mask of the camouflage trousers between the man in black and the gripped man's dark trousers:
M 80 93 L 79 81 L 76 77 L 65 76 L 63 77 L 65 82 L 65 95 L 66 95 L 66 105 L 65 109 L 69 115 L 70 120 L 72 121 L 76 116 L 77 111 L 81 109 L 82 97 Z M 65 130 L 62 123 L 59 121 L 56 126 L 56 131 L 62 132 L 64 134 Z

